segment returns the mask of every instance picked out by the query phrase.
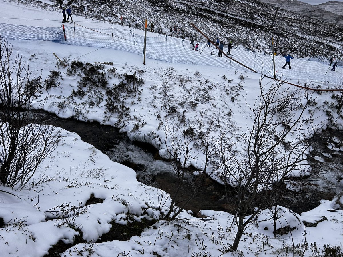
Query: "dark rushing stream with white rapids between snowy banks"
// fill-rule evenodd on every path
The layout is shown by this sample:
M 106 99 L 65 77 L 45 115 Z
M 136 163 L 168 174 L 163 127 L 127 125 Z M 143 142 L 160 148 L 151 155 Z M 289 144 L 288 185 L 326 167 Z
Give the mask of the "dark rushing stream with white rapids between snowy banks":
M 101 125 L 97 122 L 82 122 L 73 119 L 61 119 L 54 114 L 45 111 L 38 112 L 38 120 L 41 124 L 50 124 L 62 127 L 70 132 L 77 133 L 84 142 L 93 145 L 110 157 L 111 160 L 128 166 L 137 172 L 137 180 L 143 184 L 157 187 L 173 195 L 178 185 L 178 178 L 171 168 L 171 163 L 163 160 L 155 160 L 154 155 L 157 149 L 150 144 L 132 142 L 126 134 L 119 133 L 119 129 Z M 277 204 L 292 209 L 297 213 L 308 211 L 319 205 L 319 200 L 331 200 L 337 193 L 342 191 L 343 181 L 343 151 L 330 150 L 326 147 L 328 140 L 333 142 L 343 142 L 343 131 L 326 130 L 320 135 L 314 135 L 309 143 L 317 152 L 324 163 L 311 159 L 312 167 L 320 166 L 320 173 L 326 179 L 316 180 L 312 176 L 306 178 L 310 187 L 313 187 L 315 194 L 306 197 L 295 192 L 287 191 L 284 186 L 281 190 L 287 195 L 277 199 Z M 343 143 L 342 143 L 343 144 Z M 338 143 L 336 143 L 338 145 Z M 342 148 L 343 150 L 343 148 Z M 327 156 L 321 155 L 326 152 Z M 329 170 L 329 171 L 328 171 Z M 187 181 L 193 179 L 192 170 L 185 177 Z M 191 191 L 187 188 L 182 189 L 187 198 Z M 205 179 L 197 195 L 186 206 L 194 214 L 199 210 L 211 209 L 215 211 L 233 211 L 233 206 L 229 206 L 225 199 L 224 186 L 214 182 L 210 178 Z

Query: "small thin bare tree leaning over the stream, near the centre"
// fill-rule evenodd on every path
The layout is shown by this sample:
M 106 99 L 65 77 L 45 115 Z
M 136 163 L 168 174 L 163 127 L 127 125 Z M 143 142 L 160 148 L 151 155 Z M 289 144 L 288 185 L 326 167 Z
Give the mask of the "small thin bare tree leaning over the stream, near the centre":
M 175 219 L 197 194 L 206 176 L 215 172 L 212 162 L 217 152 L 212 133 L 218 126 L 218 119 L 213 114 L 208 114 L 208 110 L 200 111 L 200 119 L 188 126 L 184 123 L 181 125 L 177 117 L 165 117 L 163 130 L 167 140 L 170 140 L 166 144 L 165 155 L 171 160 L 172 171 L 178 178 L 178 186 L 171 195 L 168 212 L 163 214 L 162 219 Z M 192 177 L 186 182 L 187 167 L 190 165 L 197 166 L 200 171 L 196 178 Z M 191 193 L 185 196 L 186 191 Z

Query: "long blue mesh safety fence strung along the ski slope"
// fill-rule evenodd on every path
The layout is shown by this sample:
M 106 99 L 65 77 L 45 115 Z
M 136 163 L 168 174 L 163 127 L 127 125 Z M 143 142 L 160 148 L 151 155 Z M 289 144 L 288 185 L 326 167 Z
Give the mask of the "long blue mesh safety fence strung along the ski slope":
M 34 27 L 0 23 L 0 35 L 7 39 L 20 40 L 49 40 L 62 44 L 76 46 L 90 46 L 97 48 L 109 48 L 136 53 L 143 56 L 144 32 L 141 29 L 120 29 L 120 28 L 86 28 L 79 24 L 66 25 L 65 32 L 67 40 L 64 40 L 62 26 Z M 190 40 L 161 35 L 147 37 L 146 58 L 159 60 L 168 63 L 183 63 L 191 65 L 211 65 L 224 67 L 230 70 L 251 72 L 244 66 L 225 57 L 218 57 L 218 50 L 206 42 L 194 42 L 199 44 L 198 51 L 192 50 Z M 226 46 L 226 45 L 225 45 Z M 223 51 L 226 53 L 227 48 Z M 258 53 L 240 46 L 231 49 L 233 59 L 245 64 L 258 73 L 273 76 L 273 60 L 270 54 Z M 115 59 L 115 57 L 109 57 Z M 104 60 L 113 61 L 113 60 Z M 315 81 L 319 83 L 332 83 L 339 85 L 342 82 L 343 72 L 331 71 L 331 66 L 325 63 L 311 61 L 310 59 L 292 59 L 292 69 L 282 69 L 285 58 L 275 56 L 276 77 L 298 84 L 298 81 L 305 81 L 308 85 Z

